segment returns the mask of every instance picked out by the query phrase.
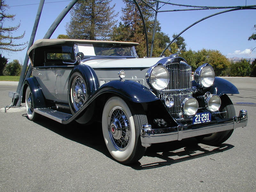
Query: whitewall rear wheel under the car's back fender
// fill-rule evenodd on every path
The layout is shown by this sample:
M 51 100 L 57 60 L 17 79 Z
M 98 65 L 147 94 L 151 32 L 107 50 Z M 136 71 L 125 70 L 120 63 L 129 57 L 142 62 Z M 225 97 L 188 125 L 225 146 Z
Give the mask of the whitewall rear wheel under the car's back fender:
M 26 104 L 26 111 L 28 114 L 28 119 L 31 121 L 38 120 L 40 115 L 38 113 L 35 113 L 35 111 L 34 111 L 35 102 L 34 102 L 33 94 L 31 92 L 29 86 L 26 89 L 25 104 Z

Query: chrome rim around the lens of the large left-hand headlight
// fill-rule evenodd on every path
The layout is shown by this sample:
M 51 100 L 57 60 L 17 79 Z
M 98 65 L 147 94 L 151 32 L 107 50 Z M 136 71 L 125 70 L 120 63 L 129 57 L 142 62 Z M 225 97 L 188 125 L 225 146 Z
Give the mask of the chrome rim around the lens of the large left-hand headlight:
M 166 75 L 167 75 L 167 81 L 166 81 L 166 83 L 165 83 L 165 85 L 164 85 L 164 87 L 156 87 L 156 86 L 154 86 L 154 82 L 152 82 L 152 79 L 151 79 L 151 75 L 152 75 L 152 72 L 154 71 L 154 69 L 156 69 L 156 68 L 163 68 L 165 71 L 166 71 Z M 148 85 L 150 86 L 150 87 L 152 87 L 154 90 L 156 90 L 156 91 L 162 91 L 162 90 L 164 90 L 167 86 L 168 86 L 168 84 L 169 84 L 169 82 L 170 82 L 170 74 L 169 74 L 169 71 L 168 71 L 168 69 L 164 66 L 164 65 L 162 65 L 161 63 L 158 63 L 158 64 L 156 64 L 156 65 L 154 65 L 153 67 L 151 67 L 151 68 L 149 68 L 148 69 L 148 71 L 147 71 L 147 73 L 146 73 L 146 81 L 147 81 L 147 83 L 148 83 Z

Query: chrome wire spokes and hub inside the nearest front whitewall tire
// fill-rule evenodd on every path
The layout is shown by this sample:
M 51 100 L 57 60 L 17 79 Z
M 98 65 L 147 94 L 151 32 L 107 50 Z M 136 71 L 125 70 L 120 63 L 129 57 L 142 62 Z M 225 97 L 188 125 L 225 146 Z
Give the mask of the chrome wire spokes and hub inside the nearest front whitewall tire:
M 108 120 L 108 132 L 112 144 L 119 151 L 128 146 L 131 130 L 128 117 L 122 108 L 113 108 Z

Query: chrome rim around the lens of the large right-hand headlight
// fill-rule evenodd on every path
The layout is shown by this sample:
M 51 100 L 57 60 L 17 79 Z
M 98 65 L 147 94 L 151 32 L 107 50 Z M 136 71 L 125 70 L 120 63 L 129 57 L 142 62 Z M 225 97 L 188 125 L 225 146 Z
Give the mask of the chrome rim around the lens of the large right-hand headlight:
M 212 70 L 212 77 L 211 77 L 212 83 L 208 84 L 208 85 L 202 83 L 203 78 L 201 77 L 201 75 L 202 75 L 202 71 L 205 67 L 210 68 Z M 209 63 L 204 63 L 203 65 L 198 67 L 194 72 L 194 80 L 195 80 L 196 84 L 199 85 L 200 87 L 208 88 L 208 87 L 212 86 L 214 83 L 214 80 L 215 80 L 215 72 L 214 72 L 213 67 Z

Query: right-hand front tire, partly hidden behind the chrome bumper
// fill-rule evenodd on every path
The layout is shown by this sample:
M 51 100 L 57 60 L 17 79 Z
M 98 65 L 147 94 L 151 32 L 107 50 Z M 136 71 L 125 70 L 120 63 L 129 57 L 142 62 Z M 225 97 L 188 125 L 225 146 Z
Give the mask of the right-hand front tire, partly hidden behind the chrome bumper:
M 229 99 L 228 95 L 221 96 L 221 106 L 220 111 L 227 111 L 226 113 L 222 113 L 222 118 L 232 118 L 236 116 L 235 108 L 232 101 Z M 196 137 L 196 139 L 204 144 L 218 146 L 221 143 L 225 142 L 233 133 L 233 129 L 221 132 L 215 132 L 211 135 L 202 135 Z

